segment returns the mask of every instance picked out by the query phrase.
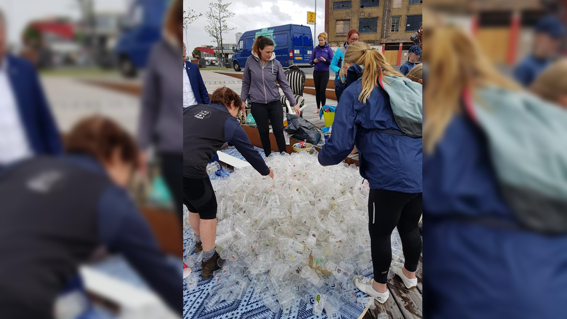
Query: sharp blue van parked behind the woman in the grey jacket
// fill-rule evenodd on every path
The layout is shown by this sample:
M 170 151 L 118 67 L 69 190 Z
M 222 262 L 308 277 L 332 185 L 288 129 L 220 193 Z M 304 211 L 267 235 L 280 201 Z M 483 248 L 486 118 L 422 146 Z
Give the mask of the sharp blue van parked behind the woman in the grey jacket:
M 299 24 L 251 30 L 242 33 L 236 47 L 232 48 L 232 66 L 240 71 L 246 66 L 246 59 L 252 54 L 252 44 L 257 36 L 267 36 L 274 41 L 274 53 L 283 68 L 291 65 L 312 66 L 309 64 L 313 39 L 311 28 Z

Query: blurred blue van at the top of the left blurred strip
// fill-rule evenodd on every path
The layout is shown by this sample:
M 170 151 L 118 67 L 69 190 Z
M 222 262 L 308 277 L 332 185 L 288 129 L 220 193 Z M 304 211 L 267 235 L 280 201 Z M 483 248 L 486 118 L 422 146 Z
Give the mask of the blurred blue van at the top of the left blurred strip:
M 170 0 L 134 0 L 121 22 L 121 34 L 114 49 L 120 73 L 133 77 L 146 66 L 151 47 L 162 36 Z

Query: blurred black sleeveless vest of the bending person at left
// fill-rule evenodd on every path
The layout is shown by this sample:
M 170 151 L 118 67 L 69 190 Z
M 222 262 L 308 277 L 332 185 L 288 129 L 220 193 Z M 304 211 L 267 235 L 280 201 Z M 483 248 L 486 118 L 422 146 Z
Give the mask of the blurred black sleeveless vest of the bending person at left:
M 0 317 L 51 318 L 57 295 L 99 245 L 108 177 L 61 159 L 29 159 L 0 175 Z

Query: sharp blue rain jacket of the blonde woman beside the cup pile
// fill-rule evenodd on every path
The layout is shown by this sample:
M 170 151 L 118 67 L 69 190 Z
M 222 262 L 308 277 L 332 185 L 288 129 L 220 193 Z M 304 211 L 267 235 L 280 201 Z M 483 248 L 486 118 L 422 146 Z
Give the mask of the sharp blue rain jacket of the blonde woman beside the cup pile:
M 422 191 L 421 138 L 376 132 L 402 132 L 394 120 L 390 98 L 382 87 L 374 87 L 366 103 L 358 100 L 362 80 L 342 93 L 333 122 L 333 133 L 319 152 L 321 165 L 336 165 L 357 146 L 360 174 L 370 188 L 405 193 Z

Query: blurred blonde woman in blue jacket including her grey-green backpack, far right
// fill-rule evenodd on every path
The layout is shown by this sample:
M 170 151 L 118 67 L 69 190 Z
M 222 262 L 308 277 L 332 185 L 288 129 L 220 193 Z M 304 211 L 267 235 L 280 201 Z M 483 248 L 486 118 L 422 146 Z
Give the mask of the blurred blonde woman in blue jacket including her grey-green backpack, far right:
M 426 32 L 424 318 L 563 318 L 567 196 L 545 199 L 534 188 L 553 194 L 565 185 L 567 134 L 539 137 L 565 132 L 567 114 L 499 74 L 465 31 Z M 549 149 L 557 156 L 541 165 Z M 511 184 L 504 174 L 512 167 L 523 170 L 507 178 L 532 175 L 538 182 Z M 546 169 L 556 178 L 539 175 Z

